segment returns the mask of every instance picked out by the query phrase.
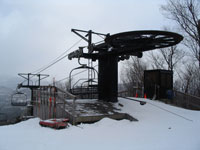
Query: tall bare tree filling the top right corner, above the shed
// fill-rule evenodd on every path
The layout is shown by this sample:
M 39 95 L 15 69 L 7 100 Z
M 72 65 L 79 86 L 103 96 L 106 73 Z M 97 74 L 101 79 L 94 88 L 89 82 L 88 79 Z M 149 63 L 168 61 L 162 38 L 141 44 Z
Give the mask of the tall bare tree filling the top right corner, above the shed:
M 200 67 L 200 6 L 198 0 L 168 0 L 161 7 L 164 15 L 174 20 L 184 35 L 184 45 L 199 61 Z

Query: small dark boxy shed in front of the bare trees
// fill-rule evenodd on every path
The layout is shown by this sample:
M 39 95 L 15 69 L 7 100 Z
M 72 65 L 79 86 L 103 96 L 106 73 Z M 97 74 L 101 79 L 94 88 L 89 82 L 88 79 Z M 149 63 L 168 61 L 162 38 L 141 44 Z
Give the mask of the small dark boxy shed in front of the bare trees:
M 171 98 L 172 90 L 173 71 L 161 69 L 144 71 L 144 94 L 147 98 Z

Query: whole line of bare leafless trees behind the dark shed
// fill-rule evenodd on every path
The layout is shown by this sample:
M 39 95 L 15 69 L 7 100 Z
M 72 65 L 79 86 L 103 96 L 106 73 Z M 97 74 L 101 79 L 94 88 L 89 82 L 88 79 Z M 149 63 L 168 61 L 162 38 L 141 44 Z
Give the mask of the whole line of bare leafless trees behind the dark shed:
M 200 2 L 198 0 L 167 0 L 161 13 L 175 23 L 166 31 L 184 36 L 181 44 L 146 52 L 143 58 L 131 57 L 125 62 L 121 74 L 127 90 L 144 85 L 144 70 L 173 71 L 174 89 L 200 97 Z

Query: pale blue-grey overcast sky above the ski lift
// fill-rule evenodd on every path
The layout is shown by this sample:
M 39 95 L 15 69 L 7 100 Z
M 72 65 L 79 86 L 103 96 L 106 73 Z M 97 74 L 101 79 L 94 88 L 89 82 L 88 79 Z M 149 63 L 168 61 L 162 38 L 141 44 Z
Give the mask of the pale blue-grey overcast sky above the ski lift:
M 0 0 L 0 75 L 49 64 L 80 39 L 71 28 L 111 34 L 162 29 L 170 22 L 161 4 L 165 0 Z M 66 58 L 43 73 L 59 80 L 75 66 L 77 60 Z

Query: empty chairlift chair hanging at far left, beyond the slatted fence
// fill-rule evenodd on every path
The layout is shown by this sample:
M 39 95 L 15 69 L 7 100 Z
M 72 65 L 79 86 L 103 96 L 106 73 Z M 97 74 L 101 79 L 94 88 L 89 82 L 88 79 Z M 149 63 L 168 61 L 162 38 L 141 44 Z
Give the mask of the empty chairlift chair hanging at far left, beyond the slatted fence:
M 12 106 L 27 106 L 27 95 L 17 91 L 11 96 Z

